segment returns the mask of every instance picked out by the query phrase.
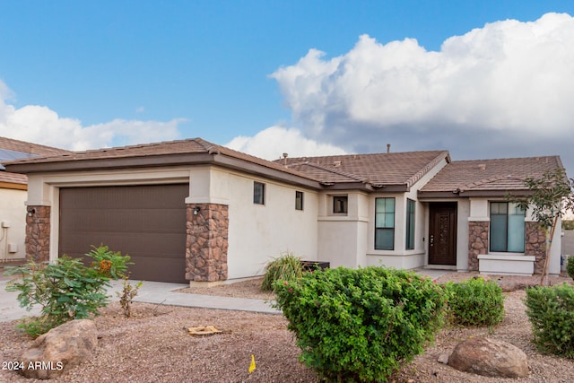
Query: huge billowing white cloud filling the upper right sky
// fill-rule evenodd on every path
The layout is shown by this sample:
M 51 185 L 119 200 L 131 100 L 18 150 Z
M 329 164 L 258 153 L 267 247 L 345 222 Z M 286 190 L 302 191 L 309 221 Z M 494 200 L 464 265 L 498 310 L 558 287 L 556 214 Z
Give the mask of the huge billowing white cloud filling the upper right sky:
M 343 144 L 348 130 L 361 126 L 560 135 L 574 123 L 574 19 L 568 14 L 492 22 L 447 39 L 439 52 L 415 39 L 380 44 L 363 35 L 344 56 L 323 55 L 310 49 L 271 75 L 293 118 L 316 139 Z

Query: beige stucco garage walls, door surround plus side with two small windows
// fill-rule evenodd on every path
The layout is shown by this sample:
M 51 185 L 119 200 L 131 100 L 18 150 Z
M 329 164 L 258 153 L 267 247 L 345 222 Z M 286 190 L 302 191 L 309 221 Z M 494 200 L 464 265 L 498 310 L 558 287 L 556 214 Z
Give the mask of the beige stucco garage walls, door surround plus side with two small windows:
M 265 205 L 253 204 L 256 179 L 265 183 Z M 221 168 L 170 167 L 31 175 L 27 205 L 48 205 L 57 212 L 59 187 L 180 182 L 189 183 L 187 204 L 229 205 L 229 279 L 263 274 L 265 264 L 283 252 L 317 259 L 315 192 Z M 304 193 L 303 211 L 295 210 L 296 190 Z M 51 218 L 50 259 L 56 259 L 59 222 L 57 214 Z

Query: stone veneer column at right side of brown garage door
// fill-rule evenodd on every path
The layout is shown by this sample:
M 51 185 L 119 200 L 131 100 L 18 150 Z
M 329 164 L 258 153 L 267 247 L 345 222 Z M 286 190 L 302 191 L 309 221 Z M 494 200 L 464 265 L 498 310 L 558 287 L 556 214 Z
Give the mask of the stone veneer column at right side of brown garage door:
M 199 212 L 194 214 L 194 209 Z M 192 282 L 227 279 L 229 206 L 187 205 L 186 278 Z

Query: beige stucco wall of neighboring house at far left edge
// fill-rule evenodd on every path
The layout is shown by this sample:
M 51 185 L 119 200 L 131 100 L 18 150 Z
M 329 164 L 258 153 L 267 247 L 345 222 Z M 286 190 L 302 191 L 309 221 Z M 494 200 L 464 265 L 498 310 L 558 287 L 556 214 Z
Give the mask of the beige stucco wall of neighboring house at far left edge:
M 26 257 L 26 196 L 26 190 L 0 188 L 0 262 Z

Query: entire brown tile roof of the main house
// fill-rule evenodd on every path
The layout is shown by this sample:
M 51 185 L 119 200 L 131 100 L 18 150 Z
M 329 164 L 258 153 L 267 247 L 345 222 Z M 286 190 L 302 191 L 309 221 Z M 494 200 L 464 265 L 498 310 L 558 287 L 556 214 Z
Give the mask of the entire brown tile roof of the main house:
M 219 156 L 216 156 L 217 154 Z M 125 159 L 128 161 L 122 161 Z M 406 190 L 443 160 L 448 162 L 447 166 L 422 187 L 420 191 L 422 196 L 425 194 L 431 196 L 432 193 L 452 193 L 457 190 L 464 195 L 465 192 L 524 189 L 524 178 L 537 177 L 545 170 L 562 166 L 557 156 L 450 161 L 447 151 L 348 154 L 266 161 L 222 145 L 212 144 L 201 138 L 85 152 L 65 152 L 56 156 L 11 161 L 6 165 L 11 171 L 22 170 L 22 173 L 28 174 L 35 171 L 93 170 L 209 162 L 260 175 L 272 172 L 275 178 L 292 180 L 307 186 L 319 187 L 319 183 L 327 187 L 332 184 L 339 187 L 397 186 L 401 190 Z M 35 164 L 40 166 L 33 166 Z

